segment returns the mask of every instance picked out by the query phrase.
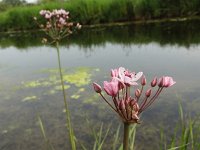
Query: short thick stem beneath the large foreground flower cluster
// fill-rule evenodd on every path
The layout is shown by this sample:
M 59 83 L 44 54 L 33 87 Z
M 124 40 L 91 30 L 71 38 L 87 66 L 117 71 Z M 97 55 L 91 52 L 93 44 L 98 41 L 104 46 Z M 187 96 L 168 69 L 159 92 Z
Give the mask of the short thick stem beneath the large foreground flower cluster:
M 129 126 L 130 126 L 129 123 L 124 122 L 123 150 L 129 149 Z

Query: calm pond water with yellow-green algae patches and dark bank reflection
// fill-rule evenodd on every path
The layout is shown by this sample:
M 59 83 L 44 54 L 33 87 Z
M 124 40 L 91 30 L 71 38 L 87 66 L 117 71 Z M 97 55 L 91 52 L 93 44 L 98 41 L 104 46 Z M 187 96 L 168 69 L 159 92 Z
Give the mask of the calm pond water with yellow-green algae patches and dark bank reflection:
M 179 100 L 185 114 L 200 113 L 199 23 L 83 28 L 62 41 L 61 63 L 78 149 L 80 143 L 92 148 L 91 128 L 98 130 L 102 123 L 104 132 L 110 126 L 104 149 L 111 149 L 120 121 L 91 83 L 102 84 L 112 68 L 143 71 L 149 81 L 169 75 L 177 82 L 143 113 L 137 149 L 158 149 L 161 129 L 170 138 L 180 118 Z M 45 149 L 38 116 L 55 149 L 70 149 L 57 53 L 41 44 L 42 37 L 36 32 L 0 35 L 1 150 Z

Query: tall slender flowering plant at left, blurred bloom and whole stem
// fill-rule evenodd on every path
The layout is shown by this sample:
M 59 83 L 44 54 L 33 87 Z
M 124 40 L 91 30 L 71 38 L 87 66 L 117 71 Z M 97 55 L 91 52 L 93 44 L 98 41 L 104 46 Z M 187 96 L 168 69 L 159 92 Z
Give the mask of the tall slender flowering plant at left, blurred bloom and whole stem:
M 45 23 L 39 24 L 40 28 L 50 37 L 52 44 L 55 44 L 57 50 L 57 57 L 58 57 L 58 65 L 59 65 L 59 74 L 60 74 L 60 82 L 62 86 L 62 93 L 63 93 L 63 101 L 65 106 L 65 113 L 66 113 L 66 120 L 67 120 L 67 127 L 69 130 L 69 139 L 71 144 L 71 149 L 76 150 L 76 142 L 74 131 L 71 124 L 70 112 L 68 108 L 68 102 L 65 92 L 65 85 L 60 61 L 60 50 L 59 50 L 59 42 L 72 34 L 75 28 L 80 29 L 81 25 L 79 23 L 74 24 L 70 22 L 69 12 L 65 11 L 64 9 L 54 9 L 53 11 L 50 10 L 41 10 L 40 15 L 44 18 Z M 37 21 L 37 18 L 34 17 L 34 20 Z M 46 38 L 42 39 L 43 43 L 47 43 L 48 40 Z

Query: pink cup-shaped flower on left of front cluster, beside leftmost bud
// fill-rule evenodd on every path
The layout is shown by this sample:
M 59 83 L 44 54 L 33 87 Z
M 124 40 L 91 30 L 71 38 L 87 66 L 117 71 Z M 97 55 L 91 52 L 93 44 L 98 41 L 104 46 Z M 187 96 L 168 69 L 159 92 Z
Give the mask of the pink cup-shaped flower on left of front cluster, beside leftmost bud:
M 105 92 L 112 97 L 115 97 L 119 92 L 118 81 L 116 80 L 113 80 L 111 82 L 104 81 L 103 85 Z

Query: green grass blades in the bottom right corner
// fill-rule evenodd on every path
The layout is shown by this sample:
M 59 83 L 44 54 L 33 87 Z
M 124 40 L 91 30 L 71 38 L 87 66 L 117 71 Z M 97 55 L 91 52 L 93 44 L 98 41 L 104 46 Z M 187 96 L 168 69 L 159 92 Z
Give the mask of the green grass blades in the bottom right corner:
M 176 127 L 172 129 L 174 135 L 167 140 L 167 136 L 161 132 L 161 150 L 196 150 L 200 148 L 199 116 L 190 118 L 184 115 L 183 107 L 179 102 L 179 116 Z M 169 139 L 169 138 L 168 138 Z

